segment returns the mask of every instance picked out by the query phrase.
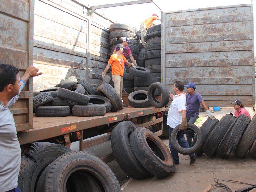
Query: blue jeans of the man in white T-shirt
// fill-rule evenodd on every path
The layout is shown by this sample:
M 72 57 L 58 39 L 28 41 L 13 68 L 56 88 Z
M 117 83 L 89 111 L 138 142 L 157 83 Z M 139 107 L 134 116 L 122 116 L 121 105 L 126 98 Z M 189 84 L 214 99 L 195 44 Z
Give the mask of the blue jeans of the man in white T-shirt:
M 179 154 L 178 152 L 172 147 L 171 144 L 171 133 L 173 131 L 173 128 L 169 127 L 169 145 L 170 145 L 170 150 L 171 150 L 171 155 L 172 158 L 174 160 L 174 163 L 179 163 Z M 190 148 L 190 146 L 188 145 L 188 143 L 185 140 L 184 134 L 185 134 L 186 130 L 180 131 L 178 136 L 177 136 L 177 141 L 178 144 L 183 147 L 183 148 Z M 192 157 L 193 155 L 195 155 L 194 153 L 189 155 L 190 157 Z

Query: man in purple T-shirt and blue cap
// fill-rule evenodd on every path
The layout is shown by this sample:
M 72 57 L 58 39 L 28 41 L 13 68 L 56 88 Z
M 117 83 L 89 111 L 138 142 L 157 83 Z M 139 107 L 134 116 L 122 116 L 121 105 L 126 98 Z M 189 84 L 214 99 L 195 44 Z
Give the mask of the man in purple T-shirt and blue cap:
M 187 100 L 187 108 L 186 108 L 186 118 L 188 123 L 194 124 L 196 119 L 198 118 L 199 111 L 200 111 L 200 103 L 206 110 L 206 114 L 208 118 L 211 120 L 214 120 L 214 116 L 211 115 L 210 110 L 206 106 L 202 96 L 195 92 L 196 85 L 194 83 L 189 83 L 185 85 L 187 88 L 187 93 L 186 94 L 186 100 Z M 195 137 L 195 133 L 190 130 L 186 130 L 186 137 L 187 137 L 187 142 L 191 146 L 192 144 L 192 139 Z

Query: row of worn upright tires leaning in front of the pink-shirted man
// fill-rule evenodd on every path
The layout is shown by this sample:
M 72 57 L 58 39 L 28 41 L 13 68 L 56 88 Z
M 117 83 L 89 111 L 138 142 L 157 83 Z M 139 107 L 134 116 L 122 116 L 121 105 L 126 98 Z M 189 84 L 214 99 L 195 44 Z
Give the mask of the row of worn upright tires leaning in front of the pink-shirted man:
M 256 158 L 256 116 L 242 114 L 238 117 L 226 114 L 221 120 L 207 119 L 200 127 L 203 136 L 202 147 L 196 151 L 197 156 L 203 153 L 209 157 L 218 155 L 228 158 L 235 155 L 243 158 L 249 155 Z M 195 137 L 192 145 L 196 142 Z

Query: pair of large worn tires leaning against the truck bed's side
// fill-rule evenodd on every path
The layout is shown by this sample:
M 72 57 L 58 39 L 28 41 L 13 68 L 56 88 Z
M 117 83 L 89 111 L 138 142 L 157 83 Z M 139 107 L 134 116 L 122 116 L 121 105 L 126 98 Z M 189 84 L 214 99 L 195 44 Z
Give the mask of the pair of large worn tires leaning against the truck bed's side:
M 171 153 L 161 139 L 130 121 L 119 123 L 111 132 L 111 147 L 120 168 L 131 178 L 164 178 L 175 169 Z

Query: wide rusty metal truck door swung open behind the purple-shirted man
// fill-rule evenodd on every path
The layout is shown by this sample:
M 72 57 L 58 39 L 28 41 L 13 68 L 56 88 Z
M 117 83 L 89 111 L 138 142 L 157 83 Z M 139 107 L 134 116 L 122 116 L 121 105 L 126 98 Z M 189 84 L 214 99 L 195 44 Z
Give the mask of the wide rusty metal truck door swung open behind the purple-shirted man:
M 163 83 L 194 82 L 207 106 L 255 107 L 253 5 L 163 13 Z M 186 92 L 186 89 L 184 89 Z

